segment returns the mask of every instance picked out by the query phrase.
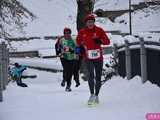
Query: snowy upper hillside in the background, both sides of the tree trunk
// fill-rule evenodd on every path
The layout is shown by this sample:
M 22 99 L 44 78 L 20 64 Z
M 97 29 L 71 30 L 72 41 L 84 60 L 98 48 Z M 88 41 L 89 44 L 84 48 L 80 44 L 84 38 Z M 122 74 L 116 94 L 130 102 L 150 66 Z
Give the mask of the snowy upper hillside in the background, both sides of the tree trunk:
M 20 0 L 29 10 L 31 10 L 37 19 L 29 23 L 25 28 L 25 36 L 45 36 L 45 35 L 62 35 L 64 27 L 70 27 L 73 34 L 76 31 L 76 15 L 77 4 L 75 0 Z M 142 0 L 132 0 L 132 3 L 139 3 Z M 95 9 L 112 10 L 114 9 L 128 9 L 128 0 L 97 0 Z M 97 24 L 102 26 L 105 30 L 120 30 L 128 32 L 128 14 L 125 14 L 116 19 L 112 23 L 109 19 L 99 20 Z M 152 10 L 147 8 L 132 14 L 133 18 L 133 32 L 138 31 L 160 31 L 160 8 Z M 102 18 L 101 18 L 102 19 Z M 127 24 L 119 23 L 124 20 Z M 147 25 L 146 25 L 147 24 Z M 146 30 L 147 29 L 147 30 Z M 16 36 L 22 36 L 13 31 Z

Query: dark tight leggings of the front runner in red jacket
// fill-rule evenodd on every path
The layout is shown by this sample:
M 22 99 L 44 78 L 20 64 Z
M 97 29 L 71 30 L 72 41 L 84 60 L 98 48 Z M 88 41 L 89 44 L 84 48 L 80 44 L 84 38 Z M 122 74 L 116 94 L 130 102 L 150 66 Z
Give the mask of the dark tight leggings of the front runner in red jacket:
M 89 72 L 89 89 L 90 93 L 98 96 L 100 88 L 101 88 L 101 76 L 102 76 L 102 68 L 103 68 L 103 61 L 102 60 L 87 60 L 87 69 Z M 95 74 L 94 75 L 94 71 Z M 94 80 L 95 76 L 95 80 Z

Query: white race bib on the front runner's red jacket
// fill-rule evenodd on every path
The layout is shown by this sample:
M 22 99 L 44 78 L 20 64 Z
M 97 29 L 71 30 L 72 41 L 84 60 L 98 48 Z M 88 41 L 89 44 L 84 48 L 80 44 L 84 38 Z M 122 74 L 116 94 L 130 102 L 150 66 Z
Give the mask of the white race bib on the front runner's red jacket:
M 100 56 L 101 56 L 100 49 L 88 50 L 88 58 L 89 59 L 97 59 L 97 58 L 100 58 Z

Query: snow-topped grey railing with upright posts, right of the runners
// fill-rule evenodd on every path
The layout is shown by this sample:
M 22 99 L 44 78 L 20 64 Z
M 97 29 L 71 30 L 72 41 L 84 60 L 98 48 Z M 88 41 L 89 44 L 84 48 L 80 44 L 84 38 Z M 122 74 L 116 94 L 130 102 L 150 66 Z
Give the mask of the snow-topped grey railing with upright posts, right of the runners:
M 134 46 L 134 47 L 133 47 Z M 131 63 L 131 50 L 139 48 L 140 49 L 140 74 L 142 78 L 142 82 L 147 81 L 147 50 L 154 49 L 160 51 L 160 42 L 155 41 L 144 41 L 144 38 L 139 38 L 139 41 L 135 41 L 132 43 L 129 43 L 128 40 L 125 40 L 125 44 L 118 46 L 117 44 L 113 45 L 113 55 L 115 58 L 118 58 L 118 54 L 121 51 L 125 52 L 125 75 L 127 79 L 131 79 L 132 77 L 132 63 Z M 119 59 L 119 58 L 118 58 Z

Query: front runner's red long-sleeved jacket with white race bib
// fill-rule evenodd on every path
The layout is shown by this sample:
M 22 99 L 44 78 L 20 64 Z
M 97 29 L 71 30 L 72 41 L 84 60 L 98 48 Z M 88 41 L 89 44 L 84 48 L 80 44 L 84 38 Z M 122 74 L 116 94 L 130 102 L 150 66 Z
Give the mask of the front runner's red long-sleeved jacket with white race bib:
M 97 26 L 93 29 L 82 28 L 76 38 L 77 46 L 82 45 L 85 48 L 84 58 L 87 60 L 103 60 L 102 48 L 96 44 L 94 39 L 101 40 L 103 45 L 110 44 L 105 31 Z

